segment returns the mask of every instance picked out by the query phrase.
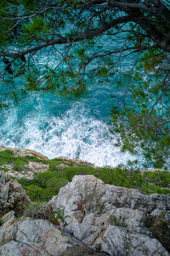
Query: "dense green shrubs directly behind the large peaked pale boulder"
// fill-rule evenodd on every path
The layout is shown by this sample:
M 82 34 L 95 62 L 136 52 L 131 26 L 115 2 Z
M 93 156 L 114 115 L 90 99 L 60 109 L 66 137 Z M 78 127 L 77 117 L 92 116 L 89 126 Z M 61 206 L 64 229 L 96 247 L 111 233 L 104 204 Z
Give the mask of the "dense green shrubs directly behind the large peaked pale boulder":
M 50 165 L 47 172 L 35 173 L 33 179 L 20 179 L 19 183 L 26 189 L 31 201 L 48 201 L 59 193 L 59 189 L 71 182 L 75 175 L 94 175 L 104 183 L 129 189 L 140 189 L 146 194 L 170 194 L 170 172 L 141 172 L 127 169 L 123 166 L 116 168 L 94 168 L 91 166 L 68 166 L 57 168 Z

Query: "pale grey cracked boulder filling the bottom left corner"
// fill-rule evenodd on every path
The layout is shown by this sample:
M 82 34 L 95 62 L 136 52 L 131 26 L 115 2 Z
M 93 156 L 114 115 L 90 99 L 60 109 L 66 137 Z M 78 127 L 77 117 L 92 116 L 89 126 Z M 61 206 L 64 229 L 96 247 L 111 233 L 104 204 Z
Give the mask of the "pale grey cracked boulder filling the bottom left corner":
M 68 247 L 82 246 L 70 234 L 59 230 L 47 220 L 23 218 L 11 221 L 3 233 L 0 255 L 60 255 Z M 4 241 L 8 241 L 5 242 Z M 3 244 L 4 243 L 4 244 Z

